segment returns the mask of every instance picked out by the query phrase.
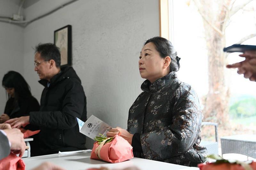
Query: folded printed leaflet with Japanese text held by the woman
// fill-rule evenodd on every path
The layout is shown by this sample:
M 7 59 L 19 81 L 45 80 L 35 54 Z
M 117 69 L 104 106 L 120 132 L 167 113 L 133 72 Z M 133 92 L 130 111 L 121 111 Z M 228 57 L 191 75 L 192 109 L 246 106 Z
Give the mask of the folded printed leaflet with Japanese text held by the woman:
M 93 140 L 96 136 L 100 136 L 99 134 L 106 136 L 108 130 L 111 129 L 111 126 L 93 115 L 86 122 L 76 119 L 79 125 L 79 132 Z

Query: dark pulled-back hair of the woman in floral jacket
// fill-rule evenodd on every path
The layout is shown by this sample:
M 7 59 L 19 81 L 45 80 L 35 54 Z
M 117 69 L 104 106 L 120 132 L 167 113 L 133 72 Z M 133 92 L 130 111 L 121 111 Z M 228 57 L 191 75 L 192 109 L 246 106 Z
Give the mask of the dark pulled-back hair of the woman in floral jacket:
M 162 58 L 169 56 L 171 58 L 170 72 L 177 72 L 180 69 L 180 58 L 177 56 L 177 52 L 174 49 L 172 43 L 163 37 L 153 37 L 146 41 L 147 43 L 154 43 L 156 50 L 159 52 Z

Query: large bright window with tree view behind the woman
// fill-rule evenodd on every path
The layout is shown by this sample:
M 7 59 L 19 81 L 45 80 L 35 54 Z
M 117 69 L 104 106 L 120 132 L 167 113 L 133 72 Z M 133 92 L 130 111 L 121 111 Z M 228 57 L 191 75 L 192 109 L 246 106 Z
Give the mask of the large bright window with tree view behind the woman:
M 244 58 L 222 50 L 256 45 L 256 1 L 248 2 L 169 0 L 169 40 L 181 58 L 178 77 L 196 90 L 204 121 L 219 124 L 219 137 L 256 134 L 256 82 L 226 69 Z

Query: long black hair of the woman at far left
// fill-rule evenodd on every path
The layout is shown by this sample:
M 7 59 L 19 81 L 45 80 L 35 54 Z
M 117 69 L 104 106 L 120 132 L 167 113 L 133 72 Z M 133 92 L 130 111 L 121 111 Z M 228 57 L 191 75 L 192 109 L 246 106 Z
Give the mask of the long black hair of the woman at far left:
M 17 101 L 32 96 L 28 83 L 18 72 L 9 71 L 6 73 L 2 85 L 4 88 L 14 88 L 14 98 Z M 8 98 L 10 98 L 10 96 L 8 96 Z

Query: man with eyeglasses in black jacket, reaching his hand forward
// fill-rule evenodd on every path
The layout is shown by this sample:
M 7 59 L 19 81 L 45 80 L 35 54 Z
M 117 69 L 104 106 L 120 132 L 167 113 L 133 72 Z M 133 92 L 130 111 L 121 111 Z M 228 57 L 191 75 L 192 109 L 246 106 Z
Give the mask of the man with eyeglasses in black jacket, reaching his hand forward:
M 56 45 L 36 46 L 35 71 L 44 86 L 40 111 L 6 122 L 12 128 L 29 123 L 40 128 L 31 146 L 32 156 L 85 149 L 85 136 L 79 132 L 76 120 L 77 117 L 86 121 L 84 89 L 75 70 L 69 66 L 60 68 L 60 60 Z

